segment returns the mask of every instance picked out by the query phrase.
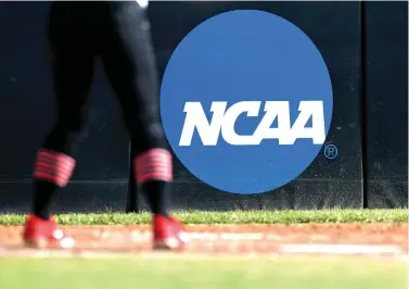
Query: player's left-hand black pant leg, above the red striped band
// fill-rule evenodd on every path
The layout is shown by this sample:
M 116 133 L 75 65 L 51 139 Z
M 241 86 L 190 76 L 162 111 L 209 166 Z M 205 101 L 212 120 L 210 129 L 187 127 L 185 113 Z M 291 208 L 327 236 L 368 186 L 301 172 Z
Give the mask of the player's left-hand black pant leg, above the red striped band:
M 48 40 L 56 102 L 56 122 L 43 148 L 72 154 L 89 114 L 94 48 L 85 17 L 69 2 L 55 2 L 50 13 Z

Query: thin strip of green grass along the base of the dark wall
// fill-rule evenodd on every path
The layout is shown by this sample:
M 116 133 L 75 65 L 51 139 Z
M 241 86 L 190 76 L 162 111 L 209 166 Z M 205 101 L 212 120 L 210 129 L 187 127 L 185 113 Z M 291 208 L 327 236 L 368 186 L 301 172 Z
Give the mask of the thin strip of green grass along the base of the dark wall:
M 398 210 L 319 210 L 319 211 L 231 211 L 177 212 L 187 224 L 290 224 L 290 223 L 408 223 L 408 209 Z M 0 225 L 22 225 L 25 215 L 1 214 Z M 64 225 L 149 224 L 151 214 L 62 214 Z

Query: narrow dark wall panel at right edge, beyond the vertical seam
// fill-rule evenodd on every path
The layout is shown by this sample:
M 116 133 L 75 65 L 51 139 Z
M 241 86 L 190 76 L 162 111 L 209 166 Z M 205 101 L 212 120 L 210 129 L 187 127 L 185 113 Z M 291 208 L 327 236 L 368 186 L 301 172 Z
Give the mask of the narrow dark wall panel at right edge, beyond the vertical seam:
M 367 3 L 369 208 L 408 205 L 408 2 Z

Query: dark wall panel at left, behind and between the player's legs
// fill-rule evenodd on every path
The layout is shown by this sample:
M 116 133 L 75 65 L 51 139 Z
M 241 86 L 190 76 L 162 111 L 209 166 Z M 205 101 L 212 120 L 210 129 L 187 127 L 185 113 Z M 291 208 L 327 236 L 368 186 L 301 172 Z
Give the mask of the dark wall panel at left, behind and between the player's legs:
M 36 150 L 54 120 L 47 62 L 49 2 L 0 2 L 0 211 L 27 211 Z M 111 88 L 97 70 L 90 129 L 73 183 L 55 210 L 124 210 L 128 137 Z

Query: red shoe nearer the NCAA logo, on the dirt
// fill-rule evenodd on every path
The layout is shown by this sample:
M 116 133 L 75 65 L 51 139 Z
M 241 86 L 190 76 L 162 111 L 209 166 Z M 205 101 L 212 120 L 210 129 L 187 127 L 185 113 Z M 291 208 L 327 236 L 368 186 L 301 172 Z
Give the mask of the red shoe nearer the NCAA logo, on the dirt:
M 182 225 L 175 218 L 163 215 L 153 216 L 153 248 L 161 250 L 178 250 L 189 242 L 189 236 Z

